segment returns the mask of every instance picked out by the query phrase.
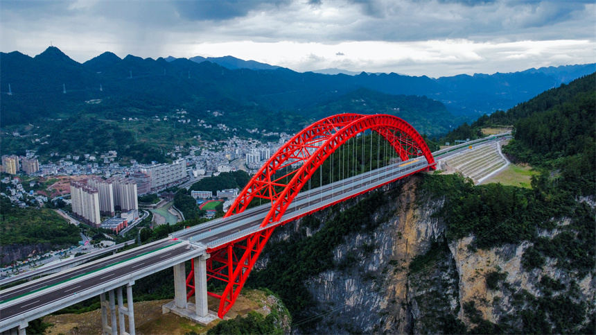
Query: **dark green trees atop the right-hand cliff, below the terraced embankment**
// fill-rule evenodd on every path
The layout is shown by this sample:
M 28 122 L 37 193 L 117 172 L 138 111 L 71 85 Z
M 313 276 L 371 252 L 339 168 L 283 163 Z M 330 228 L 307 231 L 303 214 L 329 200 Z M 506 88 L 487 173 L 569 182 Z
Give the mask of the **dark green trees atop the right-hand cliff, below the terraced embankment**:
M 523 257 L 526 268 L 541 267 L 544 257 L 557 259 L 563 270 L 584 277 L 594 266 L 595 212 L 561 187 L 553 187 L 544 173 L 532 178 L 532 190 L 487 184 L 474 187 L 457 175 L 424 175 L 421 189 L 445 197 L 437 216 L 444 217 L 450 241 L 469 235 L 473 248 L 533 241 Z M 538 237 L 538 229 L 553 229 L 566 219 L 569 225 L 556 237 Z

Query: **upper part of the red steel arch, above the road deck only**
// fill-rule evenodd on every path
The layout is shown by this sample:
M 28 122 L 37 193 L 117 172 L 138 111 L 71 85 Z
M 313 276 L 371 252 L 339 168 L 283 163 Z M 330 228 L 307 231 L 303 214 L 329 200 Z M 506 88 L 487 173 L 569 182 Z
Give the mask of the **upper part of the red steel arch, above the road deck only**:
M 389 141 L 401 160 L 424 156 L 428 164 L 434 166 L 435 159 L 426 142 L 417 130 L 403 119 L 388 114 L 338 114 L 313 123 L 281 146 L 251 178 L 225 217 L 244 212 L 253 198 L 264 198 L 271 201 L 273 209 L 261 227 L 278 221 L 291 200 L 304 186 L 304 182 L 308 181 L 326 158 L 348 139 L 369 129 L 378 132 Z M 319 145 L 315 146 L 315 144 Z M 315 151 L 310 153 L 309 148 Z M 272 179 L 280 169 L 300 163 L 303 164 L 297 171 L 288 173 L 293 175 L 288 184 L 281 182 L 288 175 Z M 283 191 L 278 192 L 275 187 L 283 187 Z M 274 209 L 275 214 L 273 214 Z

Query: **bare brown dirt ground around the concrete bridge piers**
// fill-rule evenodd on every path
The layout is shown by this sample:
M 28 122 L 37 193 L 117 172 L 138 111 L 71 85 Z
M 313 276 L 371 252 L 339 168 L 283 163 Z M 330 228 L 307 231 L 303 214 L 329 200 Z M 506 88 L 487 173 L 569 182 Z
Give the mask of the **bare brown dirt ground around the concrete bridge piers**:
M 98 298 L 99 299 L 99 298 Z M 194 297 L 189 302 L 194 301 Z M 161 306 L 171 300 L 155 300 L 134 302 L 134 326 L 137 334 L 172 334 L 184 335 L 189 332 L 201 334 L 215 327 L 220 320 L 215 320 L 207 327 L 193 323 L 186 318 L 175 316 L 173 313 L 162 314 Z M 209 297 L 209 309 L 217 311 L 219 300 Z M 249 311 L 257 311 L 264 316 L 270 313 L 270 304 L 275 303 L 263 291 L 247 290 L 238 296 L 236 304 L 230 309 L 225 319 L 246 316 Z M 101 311 L 99 309 L 80 314 L 51 315 L 44 318 L 44 323 L 53 324 L 46 330 L 46 334 L 87 335 L 101 334 Z M 125 320 L 128 332 L 128 318 Z

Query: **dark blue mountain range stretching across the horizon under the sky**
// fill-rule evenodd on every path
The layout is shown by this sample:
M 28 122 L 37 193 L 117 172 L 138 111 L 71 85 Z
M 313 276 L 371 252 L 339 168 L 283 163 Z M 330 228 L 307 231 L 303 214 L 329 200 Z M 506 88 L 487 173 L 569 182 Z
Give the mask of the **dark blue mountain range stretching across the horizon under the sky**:
M 231 56 L 154 60 L 134 55 L 119 58 L 110 52 L 80 64 L 53 46 L 34 58 L 18 51 L 0 53 L 0 60 L 3 126 L 76 114 L 92 99 L 103 99 L 108 110 L 148 113 L 171 108 L 209 110 L 225 101 L 241 109 L 283 111 L 310 119 L 322 105 L 358 89 L 426 96 L 444 103 L 455 115 L 453 120 L 477 119 L 596 71 L 596 65 L 590 64 L 436 79 L 365 72 L 350 76 L 299 73 Z M 4 95 L 8 85 L 10 98 Z

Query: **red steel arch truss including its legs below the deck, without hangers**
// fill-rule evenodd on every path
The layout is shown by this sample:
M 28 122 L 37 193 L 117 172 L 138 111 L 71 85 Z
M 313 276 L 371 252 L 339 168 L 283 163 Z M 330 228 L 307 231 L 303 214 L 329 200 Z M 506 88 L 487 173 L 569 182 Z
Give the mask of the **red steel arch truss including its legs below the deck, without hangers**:
M 211 254 L 207 259 L 207 280 L 226 283 L 222 295 L 208 293 L 220 299 L 220 318 L 236 301 L 265 243 L 300 189 L 337 148 L 366 130 L 373 130 L 386 139 L 402 161 L 425 157 L 434 168 L 435 160 L 423 138 L 409 123 L 392 115 L 338 114 L 301 130 L 263 164 L 225 215 L 244 212 L 254 198 L 267 199 L 272 207 L 261 223 L 266 229 L 243 241 L 207 250 Z M 292 169 L 286 169 L 288 166 Z M 191 271 L 186 280 L 189 297 L 194 293 L 193 277 Z

